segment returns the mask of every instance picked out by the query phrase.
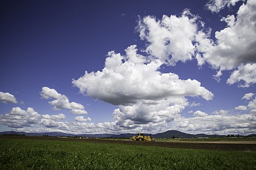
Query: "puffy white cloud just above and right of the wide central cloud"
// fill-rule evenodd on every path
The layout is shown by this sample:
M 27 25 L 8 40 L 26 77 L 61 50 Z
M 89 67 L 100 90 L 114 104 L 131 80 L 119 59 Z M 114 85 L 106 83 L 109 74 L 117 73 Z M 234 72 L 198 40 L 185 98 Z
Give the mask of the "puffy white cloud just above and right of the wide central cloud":
M 191 60 L 195 53 L 193 44 L 197 32 L 197 16 L 185 9 L 180 17 L 163 15 L 161 20 L 146 16 L 139 21 L 142 40 L 149 45 L 146 51 L 162 63 L 175 65 L 178 61 Z

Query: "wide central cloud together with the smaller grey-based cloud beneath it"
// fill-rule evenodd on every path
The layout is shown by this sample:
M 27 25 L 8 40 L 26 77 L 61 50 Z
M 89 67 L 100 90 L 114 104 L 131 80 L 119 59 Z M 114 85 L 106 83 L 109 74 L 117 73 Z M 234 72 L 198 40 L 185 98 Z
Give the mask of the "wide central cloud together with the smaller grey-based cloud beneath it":
M 119 105 L 113 117 L 122 127 L 149 122 L 170 122 L 188 105 L 185 96 L 211 100 L 213 94 L 197 80 L 181 80 L 173 73 L 161 73 L 161 60 L 137 54 L 136 45 L 126 55 L 110 51 L 102 71 L 85 71 L 73 80 L 80 92 Z

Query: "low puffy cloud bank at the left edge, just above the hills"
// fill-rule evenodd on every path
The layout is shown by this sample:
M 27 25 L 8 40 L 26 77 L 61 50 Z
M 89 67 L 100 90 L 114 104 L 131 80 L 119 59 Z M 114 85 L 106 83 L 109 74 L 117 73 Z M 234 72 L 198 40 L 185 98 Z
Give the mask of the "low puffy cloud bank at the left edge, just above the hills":
M 30 127 L 39 122 L 40 114 L 28 107 L 22 110 L 20 107 L 13 107 L 9 113 L 0 115 L 0 123 L 8 127 L 21 128 Z

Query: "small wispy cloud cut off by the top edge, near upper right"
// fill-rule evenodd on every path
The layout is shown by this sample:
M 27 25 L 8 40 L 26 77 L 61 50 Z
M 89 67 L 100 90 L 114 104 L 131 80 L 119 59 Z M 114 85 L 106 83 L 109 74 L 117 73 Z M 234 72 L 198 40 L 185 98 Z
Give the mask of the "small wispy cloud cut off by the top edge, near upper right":
M 230 7 L 231 5 L 234 6 L 236 2 L 244 1 L 244 0 L 210 0 L 206 7 L 212 11 L 212 13 L 218 13 L 220 10 L 224 9 L 225 7 Z

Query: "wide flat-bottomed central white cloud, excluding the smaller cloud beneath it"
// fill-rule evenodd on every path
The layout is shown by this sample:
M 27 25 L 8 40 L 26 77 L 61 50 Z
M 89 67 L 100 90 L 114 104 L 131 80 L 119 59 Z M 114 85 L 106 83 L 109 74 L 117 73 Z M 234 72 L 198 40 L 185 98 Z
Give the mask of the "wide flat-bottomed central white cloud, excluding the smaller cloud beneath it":
M 172 73 L 162 74 L 158 71 L 162 65 L 158 59 L 147 64 L 133 63 L 130 56 L 142 57 L 136 51 L 135 45 L 126 49 L 125 57 L 111 51 L 102 71 L 85 71 L 84 76 L 72 83 L 81 93 L 113 105 L 132 105 L 142 100 L 155 102 L 173 96 L 201 96 L 206 100 L 213 98 L 213 94 L 201 87 L 199 81 L 181 80 Z

